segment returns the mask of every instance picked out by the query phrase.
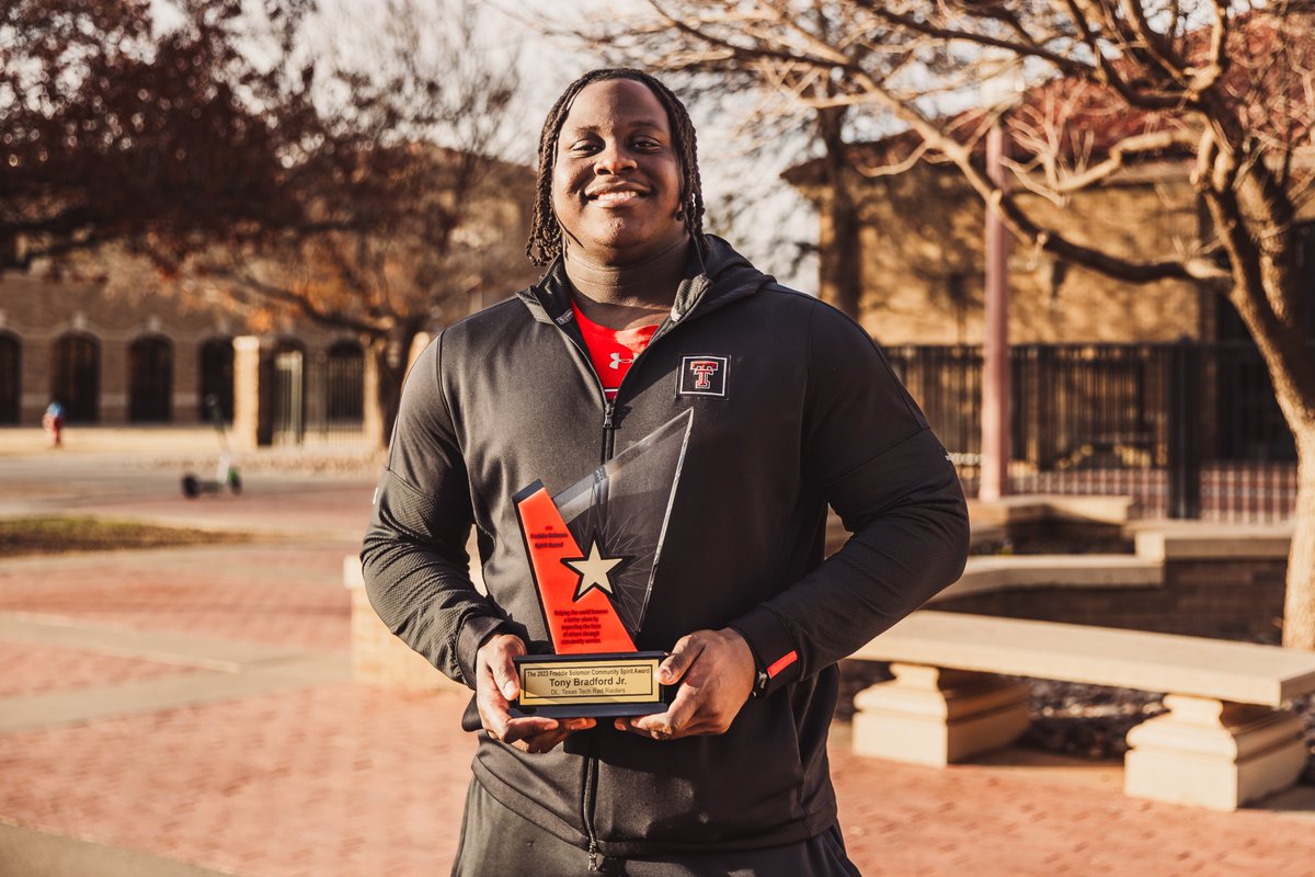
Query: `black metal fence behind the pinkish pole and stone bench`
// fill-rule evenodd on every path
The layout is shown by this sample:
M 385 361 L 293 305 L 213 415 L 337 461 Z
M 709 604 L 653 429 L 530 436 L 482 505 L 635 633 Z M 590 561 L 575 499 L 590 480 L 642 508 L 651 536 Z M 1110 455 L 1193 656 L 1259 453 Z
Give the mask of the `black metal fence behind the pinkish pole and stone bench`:
M 976 494 L 981 348 L 889 347 Z M 1145 517 L 1272 521 L 1297 497 L 1297 451 L 1245 342 L 1011 350 L 1016 493 L 1135 497 Z

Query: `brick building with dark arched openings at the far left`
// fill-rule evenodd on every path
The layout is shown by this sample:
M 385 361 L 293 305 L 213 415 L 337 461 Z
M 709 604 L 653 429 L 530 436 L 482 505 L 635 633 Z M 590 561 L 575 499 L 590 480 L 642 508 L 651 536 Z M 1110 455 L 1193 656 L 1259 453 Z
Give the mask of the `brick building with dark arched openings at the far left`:
M 358 375 L 338 414 L 362 419 L 364 347 L 347 331 L 305 321 L 275 327 L 238 309 L 167 291 L 108 289 L 104 280 L 0 276 L 0 425 L 36 425 L 51 400 L 71 423 L 205 421 L 214 394 L 233 412 L 233 339 L 262 335 L 271 350 Z

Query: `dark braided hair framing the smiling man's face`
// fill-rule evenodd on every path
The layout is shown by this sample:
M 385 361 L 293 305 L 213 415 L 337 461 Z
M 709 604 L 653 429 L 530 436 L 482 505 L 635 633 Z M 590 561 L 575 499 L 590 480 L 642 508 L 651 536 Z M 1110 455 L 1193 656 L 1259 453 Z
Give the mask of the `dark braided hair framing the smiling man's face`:
M 586 85 L 609 79 L 631 79 L 647 85 L 665 108 L 676 158 L 684 178 L 680 187 L 680 210 L 676 217 L 685 222 L 685 229 L 696 246 L 704 247 L 704 189 L 698 178 L 698 143 L 694 137 L 694 124 L 689 121 L 689 112 L 680 99 L 654 76 L 629 67 L 608 67 L 590 70 L 567 85 L 543 122 L 543 131 L 539 134 L 539 176 L 534 192 L 534 214 L 530 217 L 530 241 L 525 247 L 530 262 L 537 266 L 548 264 L 562 254 L 562 226 L 552 209 L 552 166 L 556 162 L 562 125 L 571 112 L 576 95 Z

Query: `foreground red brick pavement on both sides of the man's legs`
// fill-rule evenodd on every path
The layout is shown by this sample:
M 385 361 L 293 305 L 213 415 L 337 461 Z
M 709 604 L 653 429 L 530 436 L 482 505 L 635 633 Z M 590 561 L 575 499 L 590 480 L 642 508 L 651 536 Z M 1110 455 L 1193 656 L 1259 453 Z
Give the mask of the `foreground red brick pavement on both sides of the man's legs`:
M 471 740 L 460 694 L 321 686 L 0 738 L 0 814 L 260 877 L 442 873 Z M 935 770 L 832 747 L 865 874 L 1315 873 L 1315 830 L 998 768 Z M 76 794 L 70 790 L 76 789 Z

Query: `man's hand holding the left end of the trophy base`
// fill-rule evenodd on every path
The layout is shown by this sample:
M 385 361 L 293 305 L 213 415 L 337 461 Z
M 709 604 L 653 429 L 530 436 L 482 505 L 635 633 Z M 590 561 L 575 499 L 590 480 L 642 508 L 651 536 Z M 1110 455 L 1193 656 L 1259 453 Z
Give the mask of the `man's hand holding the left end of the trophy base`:
M 521 694 L 512 659 L 525 655 L 525 642 L 512 634 L 496 634 L 475 653 L 475 703 L 480 722 L 494 740 L 514 746 L 522 752 L 547 752 L 575 731 L 592 728 L 593 719 L 548 719 L 525 717 L 514 719 L 508 702 Z

